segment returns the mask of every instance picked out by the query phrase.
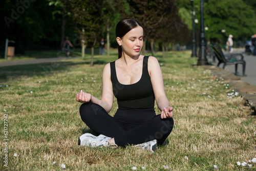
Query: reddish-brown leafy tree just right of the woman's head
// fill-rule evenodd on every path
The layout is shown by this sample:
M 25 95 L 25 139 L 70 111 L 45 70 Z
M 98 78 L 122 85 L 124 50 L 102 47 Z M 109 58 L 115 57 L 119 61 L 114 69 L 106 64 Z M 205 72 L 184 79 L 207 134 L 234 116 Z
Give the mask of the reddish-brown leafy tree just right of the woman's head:
M 127 2 L 130 4 L 130 16 L 137 19 L 144 29 L 145 42 L 147 39 L 157 40 L 161 42 L 163 49 L 166 49 L 169 42 L 175 42 L 174 37 L 177 31 L 181 31 L 180 26 L 185 27 L 181 23 L 175 0 L 128 0 Z M 151 47 L 154 55 L 153 46 Z

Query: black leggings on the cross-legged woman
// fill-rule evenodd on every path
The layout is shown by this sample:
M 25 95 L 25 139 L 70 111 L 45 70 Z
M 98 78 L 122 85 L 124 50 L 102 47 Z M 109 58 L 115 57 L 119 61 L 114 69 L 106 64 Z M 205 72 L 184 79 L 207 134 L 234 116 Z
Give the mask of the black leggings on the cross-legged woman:
M 118 146 L 158 140 L 162 144 L 173 130 L 173 118 L 161 119 L 154 110 L 117 110 L 110 116 L 96 103 L 83 103 L 80 116 L 96 134 L 115 139 Z

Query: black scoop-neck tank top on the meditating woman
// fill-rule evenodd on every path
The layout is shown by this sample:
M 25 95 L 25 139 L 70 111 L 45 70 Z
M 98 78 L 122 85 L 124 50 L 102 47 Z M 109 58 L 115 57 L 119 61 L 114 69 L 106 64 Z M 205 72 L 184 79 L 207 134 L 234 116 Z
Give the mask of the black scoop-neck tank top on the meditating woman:
M 154 110 L 155 96 L 147 70 L 148 56 L 143 58 L 142 76 L 133 84 L 121 84 L 116 76 L 115 61 L 110 62 L 113 93 L 117 98 L 118 109 Z

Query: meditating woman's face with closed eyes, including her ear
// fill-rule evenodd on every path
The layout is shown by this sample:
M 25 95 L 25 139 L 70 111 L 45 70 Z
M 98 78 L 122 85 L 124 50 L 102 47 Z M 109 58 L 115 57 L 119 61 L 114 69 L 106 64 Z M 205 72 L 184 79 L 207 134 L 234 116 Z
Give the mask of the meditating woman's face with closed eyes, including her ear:
M 129 56 L 138 56 L 143 46 L 143 29 L 138 26 L 126 33 L 122 39 L 118 39 L 119 45 L 122 45 L 122 50 Z

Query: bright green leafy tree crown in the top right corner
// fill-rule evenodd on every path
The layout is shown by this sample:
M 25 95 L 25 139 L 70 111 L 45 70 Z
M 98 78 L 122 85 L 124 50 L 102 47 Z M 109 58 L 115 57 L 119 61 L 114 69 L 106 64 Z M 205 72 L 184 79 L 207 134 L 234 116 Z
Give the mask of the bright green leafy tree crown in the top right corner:
M 255 7 L 254 7 L 255 8 Z M 205 4 L 205 25 L 211 37 L 221 38 L 221 29 L 234 39 L 250 37 L 256 32 L 256 16 L 242 0 L 208 1 Z

